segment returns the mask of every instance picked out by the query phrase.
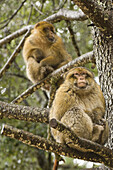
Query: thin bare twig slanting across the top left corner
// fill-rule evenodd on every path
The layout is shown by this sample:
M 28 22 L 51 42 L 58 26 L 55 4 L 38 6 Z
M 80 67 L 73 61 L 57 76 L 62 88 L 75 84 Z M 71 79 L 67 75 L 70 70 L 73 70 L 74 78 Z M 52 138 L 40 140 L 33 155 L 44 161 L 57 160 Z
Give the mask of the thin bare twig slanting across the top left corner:
M 26 2 L 26 0 L 24 0 L 21 5 L 17 8 L 17 10 L 13 13 L 13 15 L 11 17 L 9 17 L 6 21 L 6 23 L 4 24 L 4 26 L 0 27 L 0 29 L 3 29 L 4 27 L 6 27 L 10 21 L 14 18 L 14 16 L 18 13 L 18 11 L 22 8 L 22 6 L 24 5 L 24 3 Z

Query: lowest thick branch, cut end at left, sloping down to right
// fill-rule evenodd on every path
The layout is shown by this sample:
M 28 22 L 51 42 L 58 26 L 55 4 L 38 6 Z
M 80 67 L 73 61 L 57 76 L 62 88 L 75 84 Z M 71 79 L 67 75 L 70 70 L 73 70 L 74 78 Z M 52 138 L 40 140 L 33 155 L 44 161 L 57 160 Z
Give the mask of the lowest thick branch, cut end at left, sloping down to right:
M 77 151 L 76 149 L 67 147 L 54 141 L 49 141 L 40 136 L 33 135 L 32 133 L 13 128 L 12 126 L 4 125 L 1 134 L 8 136 L 10 138 L 17 139 L 27 145 L 43 149 L 49 152 L 54 152 L 58 155 L 64 155 L 72 158 L 79 158 L 87 161 L 104 163 L 106 166 L 113 167 L 113 163 L 110 164 L 109 160 L 105 160 L 102 156 L 96 155 L 95 153 L 80 152 Z

